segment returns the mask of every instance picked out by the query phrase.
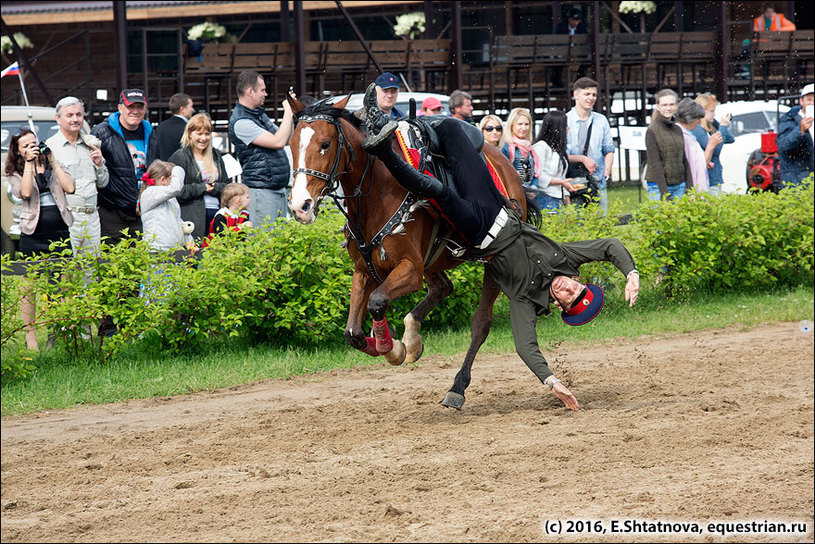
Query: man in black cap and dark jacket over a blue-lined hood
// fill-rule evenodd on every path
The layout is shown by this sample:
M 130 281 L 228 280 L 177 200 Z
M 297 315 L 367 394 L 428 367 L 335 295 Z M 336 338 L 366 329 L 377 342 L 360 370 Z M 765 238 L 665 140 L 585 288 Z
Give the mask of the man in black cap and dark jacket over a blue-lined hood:
M 98 196 L 102 236 L 108 242 L 136 238 L 136 231 L 142 229 L 136 213 L 141 177 L 158 156 L 153 127 L 144 120 L 146 113 L 144 91 L 125 89 L 119 95 L 119 111 L 91 131 L 102 141 L 102 156 L 110 173 L 107 187 L 99 189 Z

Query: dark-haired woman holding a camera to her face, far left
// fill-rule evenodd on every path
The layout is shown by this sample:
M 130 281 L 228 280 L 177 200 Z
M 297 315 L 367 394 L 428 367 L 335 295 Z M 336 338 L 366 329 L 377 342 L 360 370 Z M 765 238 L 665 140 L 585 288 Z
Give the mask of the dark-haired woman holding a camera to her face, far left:
M 5 174 L 12 191 L 23 200 L 20 216 L 20 252 L 26 257 L 48 251 L 51 243 L 69 240 L 73 216 L 65 193 L 74 192 L 74 180 L 54 160 L 51 151 L 37 144 L 36 135 L 23 129 L 11 137 Z M 37 349 L 34 329 L 36 307 L 31 289 L 20 304 L 26 345 Z

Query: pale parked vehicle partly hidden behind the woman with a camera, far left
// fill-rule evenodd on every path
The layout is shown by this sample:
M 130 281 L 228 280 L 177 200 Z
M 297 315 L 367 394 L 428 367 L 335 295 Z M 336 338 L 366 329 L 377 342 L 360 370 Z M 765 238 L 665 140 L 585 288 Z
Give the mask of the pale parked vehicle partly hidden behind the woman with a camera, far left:
M 0 191 L 0 226 L 2 226 L 2 252 L 14 254 L 20 240 L 20 211 L 22 200 L 11 192 L 11 184 L 5 174 L 6 155 L 11 137 L 21 128 L 29 128 L 29 114 L 39 141 L 45 141 L 59 131 L 54 120 L 54 108 L 25 106 L 3 106 L 0 110 L 0 131 L 2 131 L 2 190 Z M 85 130 L 90 131 L 88 123 Z

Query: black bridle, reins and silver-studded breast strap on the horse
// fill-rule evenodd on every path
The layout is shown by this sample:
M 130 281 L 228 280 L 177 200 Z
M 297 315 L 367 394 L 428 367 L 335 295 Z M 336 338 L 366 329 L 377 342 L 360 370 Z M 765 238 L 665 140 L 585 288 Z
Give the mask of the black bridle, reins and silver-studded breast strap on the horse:
M 379 229 L 379 231 L 371 238 L 370 242 L 365 241 L 365 237 L 362 234 L 362 217 L 361 217 L 361 200 L 363 197 L 367 196 L 368 193 L 362 192 L 362 184 L 365 181 L 365 177 L 368 175 L 368 172 L 371 172 L 371 184 L 368 192 L 370 192 L 371 188 L 373 188 L 374 178 L 373 178 L 373 169 L 371 166 L 373 165 L 375 158 L 372 155 L 368 155 L 368 159 L 365 163 L 365 170 L 362 172 L 362 176 L 360 176 L 359 181 L 354 188 L 353 195 L 343 195 L 340 196 L 337 194 L 337 190 L 340 188 L 340 181 L 339 178 L 345 174 L 345 172 L 338 172 L 340 166 L 340 159 L 342 156 L 342 152 L 347 146 L 350 153 L 351 153 L 351 162 L 354 162 L 355 155 L 354 155 L 354 148 L 348 142 L 348 139 L 345 137 L 345 133 L 342 130 L 342 124 L 340 121 L 332 117 L 330 115 L 304 115 L 298 118 L 297 122 L 303 121 L 305 123 L 313 123 L 314 121 L 325 121 L 327 123 L 331 123 L 337 128 L 338 134 L 338 145 L 337 145 L 337 155 L 334 157 L 334 164 L 331 166 L 331 171 L 327 174 L 325 172 L 321 172 L 319 170 L 313 170 L 311 168 L 296 168 L 294 170 L 294 174 L 297 175 L 298 173 L 306 174 L 307 176 L 314 176 L 319 178 L 325 182 L 327 185 L 323 190 L 320 192 L 319 201 L 323 199 L 323 197 L 330 197 L 334 203 L 339 208 L 340 212 L 345 216 L 345 228 L 348 232 L 349 236 L 354 240 L 357 244 L 357 248 L 359 249 L 359 253 L 362 256 L 362 260 L 365 262 L 365 267 L 368 269 L 368 273 L 371 277 L 379 283 L 383 283 L 384 280 L 380 277 L 380 275 L 376 271 L 376 267 L 374 266 L 372 255 L 373 250 L 377 247 L 382 246 L 383 240 L 392 234 L 400 234 L 404 232 L 404 223 L 412 220 L 413 211 L 416 209 L 416 204 L 418 202 L 417 198 L 410 192 L 405 195 L 402 204 L 399 208 L 393 213 L 391 218 Z M 348 215 L 348 212 L 345 211 L 345 207 L 343 207 L 341 200 L 347 200 L 350 198 L 357 199 L 357 220 L 354 221 Z M 380 259 L 383 261 L 387 259 L 387 253 L 385 253 L 385 248 L 381 247 L 380 249 Z

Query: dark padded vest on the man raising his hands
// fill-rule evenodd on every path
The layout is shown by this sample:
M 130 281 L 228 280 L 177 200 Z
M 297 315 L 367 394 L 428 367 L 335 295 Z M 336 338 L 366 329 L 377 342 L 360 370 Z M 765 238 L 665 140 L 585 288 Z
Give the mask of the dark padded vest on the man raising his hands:
M 243 168 L 241 181 L 253 189 L 284 189 L 289 184 L 291 167 L 286 152 L 282 149 L 267 149 L 254 144 L 245 144 L 235 134 L 235 123 L 249 119 L 272 134 L 277 132 L 275 125 L 262 107 L 247 108 L 240 102 L 235 104 L 229 118 L 229 138 L 235 145 L 235 154 Z

